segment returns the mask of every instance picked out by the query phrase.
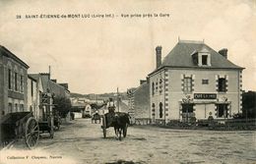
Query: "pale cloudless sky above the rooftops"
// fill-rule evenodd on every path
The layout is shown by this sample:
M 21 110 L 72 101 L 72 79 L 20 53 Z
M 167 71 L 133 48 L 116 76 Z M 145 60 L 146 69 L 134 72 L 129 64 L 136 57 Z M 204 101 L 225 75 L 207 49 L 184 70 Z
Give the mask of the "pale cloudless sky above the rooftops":
M 26 18 L 69 14 L 80 18 Z M 114 17 L 92 18 L 97 14 Z M 245 68 L 243 89 L 256 90 L 256 0 L 0 0 L 0 44 L 25 61 L 29 73 L 48 72 L 50 65 L 51 78 L 68 82 L 72 92 L 138 86 L 156 68 L 156 46 L 163 58 L 178 37 L 227 48 L 228 60 Z

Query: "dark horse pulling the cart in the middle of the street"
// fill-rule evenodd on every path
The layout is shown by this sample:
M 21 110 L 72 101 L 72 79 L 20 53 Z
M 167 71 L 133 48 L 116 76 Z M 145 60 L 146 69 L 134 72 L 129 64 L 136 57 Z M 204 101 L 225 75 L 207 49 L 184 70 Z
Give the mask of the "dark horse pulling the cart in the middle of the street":
M 115 112 L 112 125 L 114 127 L 115 135 L 119 138 L 119 140 L 121 140 L 122 132 L 123 137 L 126 137 L 127 128 L 128 125 L 130 125 L 130 118 L 131 117 L 128 113 Z

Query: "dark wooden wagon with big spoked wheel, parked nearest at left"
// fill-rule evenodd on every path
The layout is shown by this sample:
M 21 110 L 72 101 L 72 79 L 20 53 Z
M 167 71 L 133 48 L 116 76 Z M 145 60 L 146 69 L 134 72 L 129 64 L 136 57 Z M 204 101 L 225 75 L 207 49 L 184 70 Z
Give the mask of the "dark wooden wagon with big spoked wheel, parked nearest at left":
M 1 119 L 1 146 L 24 138 L 29 148 L 37 144 L 39 125 L 32 112 L 9 113 Z

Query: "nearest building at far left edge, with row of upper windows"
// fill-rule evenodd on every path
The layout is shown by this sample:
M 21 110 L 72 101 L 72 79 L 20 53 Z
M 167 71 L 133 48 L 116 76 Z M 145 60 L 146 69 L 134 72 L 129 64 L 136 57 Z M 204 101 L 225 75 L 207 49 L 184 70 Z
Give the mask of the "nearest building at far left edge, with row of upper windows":
M 0 45 L 0 110 L 7 113 L 28 111 L 29 66 Z

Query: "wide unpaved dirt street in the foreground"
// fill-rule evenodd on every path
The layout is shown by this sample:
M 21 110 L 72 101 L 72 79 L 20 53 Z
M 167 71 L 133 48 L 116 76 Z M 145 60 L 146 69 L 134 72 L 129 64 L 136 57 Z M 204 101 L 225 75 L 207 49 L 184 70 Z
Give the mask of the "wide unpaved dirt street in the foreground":
M 42 136 L 33 150 L 23 150 L 33 163 L 256 163 L 256 132 L 170 130 L 157 127 L 129 127 L 117 140 L 113 128 L 103 138 L 101 124 L 77 119 L 63 125 L 53 139 Z M 25 149 L 17 143 L 6 154 Z M 4 151 L 2 151 L 4 154 Z M 35 158 L 34 157 L 34 158 Z M 4 158 L 4 159 L 3 159 Z M 15 163 L 19 160 L 2 161 Z M 22 160 L 22 159 L 21 159 Z

